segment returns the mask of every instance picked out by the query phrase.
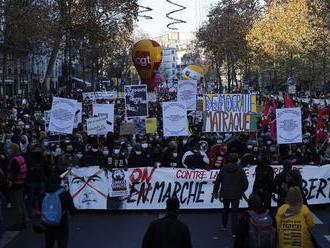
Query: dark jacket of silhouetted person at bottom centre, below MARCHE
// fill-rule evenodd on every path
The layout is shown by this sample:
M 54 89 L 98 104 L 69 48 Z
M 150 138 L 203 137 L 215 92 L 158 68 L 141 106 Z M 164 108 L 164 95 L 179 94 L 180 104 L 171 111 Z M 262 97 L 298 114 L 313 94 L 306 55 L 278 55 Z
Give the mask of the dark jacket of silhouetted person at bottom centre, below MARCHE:
M 142 248 L 191 248 L 190 231 L 175 214 L 153 221 L 143 238 Z

